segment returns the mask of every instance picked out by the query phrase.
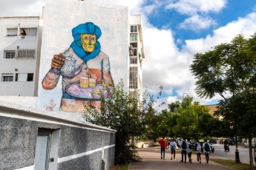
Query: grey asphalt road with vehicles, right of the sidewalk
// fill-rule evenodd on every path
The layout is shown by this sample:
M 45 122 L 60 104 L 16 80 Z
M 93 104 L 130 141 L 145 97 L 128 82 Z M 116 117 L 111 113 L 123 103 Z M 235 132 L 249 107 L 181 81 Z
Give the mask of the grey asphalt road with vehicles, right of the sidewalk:
M 211 156 L 219 157 L 227 160 L 235 160 L 235 146 L 229 146 L 229 152 L 224 151 L 223 144 L 213 144 L 214 146 L 214 153 L 211 153 Z M 244 146 L 238 146 L 239 157 L 242 163 L 249 164 L 249 148 L 245 148 Z M 252 150 L 253 155 L 253 150 Z M 255 162 L 254 162 L 255 163 Z

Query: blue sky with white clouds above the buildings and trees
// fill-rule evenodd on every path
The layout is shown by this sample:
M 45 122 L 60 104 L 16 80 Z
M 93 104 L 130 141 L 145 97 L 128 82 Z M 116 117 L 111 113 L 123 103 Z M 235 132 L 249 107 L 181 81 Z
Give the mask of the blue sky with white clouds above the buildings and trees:
M 194 55 L 229 43 L 238 34 L 249 38 L 256 32 L 255 0 L 93 1 L 125 5 L 131 15 L 142 15 L 143 88 L 155 97 L 163 86 L 160 101 L 165 99 L 166 103 L 181 101 L 187 95 L 202 104 L 218 103 L 218 95 L 206 99 L 195 93 L 196 80 L 189 69 Z M 0 16 L 38 16 L 43 5 L 43 0 L 1 0 Z

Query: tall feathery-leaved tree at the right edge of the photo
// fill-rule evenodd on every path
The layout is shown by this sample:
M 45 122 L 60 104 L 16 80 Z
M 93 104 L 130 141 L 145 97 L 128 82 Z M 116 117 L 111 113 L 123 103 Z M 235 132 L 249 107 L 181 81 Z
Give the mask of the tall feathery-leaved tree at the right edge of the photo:
M 229 99 L 237 98 L 236 95 L 239 96 L 241 93 L 252 94 L 255 90 L 255 41 L 256 34 L 249 39 L 244 38 L 243 35 L 237 35 L 229 44 L 217 45 L 213 50 L 204 54 L 197 53 L 194 55 L 194 61 L 191 64 L 191 72 L 197 78 L 195 89 L 197 95 L 201 98 L 213 98 L 217 94 L 220 95 L 223 98 L 220 101 L 220 106 L 225 108 L 221 112 L 224 120 L 229 122 L 235 130 L 240 129 L 243 132 L 248 130 L 243 129 L 245 126 L 242 118 L 245 113 L 238 109 L 243 104 L 232 104 L 231 102 L 234 102 L 234 100 Z M 251 110 L 248 114 L 253 115 L 254 112 Z M 250 124 L 250 126 L 255 127 L 255 123 Z M 253 132 L 249 133 L 252 134 Z M 251 155 L 252 149 L 250 149 Z M 252 157 L 250 157 L 250 167 L 252 169 L 251 160 Z

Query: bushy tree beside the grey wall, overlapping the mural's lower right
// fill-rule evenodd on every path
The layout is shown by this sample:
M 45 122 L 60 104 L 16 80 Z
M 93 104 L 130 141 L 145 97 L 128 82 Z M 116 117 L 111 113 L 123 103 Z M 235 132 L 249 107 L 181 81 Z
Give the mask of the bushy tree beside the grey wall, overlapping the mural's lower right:
M 116 130 L 115 164 L 140 160 L 130 141 L 132 137 L 144 135 L 147 123 L 154 120 L 150 119 L 154 115 L 154 98 L 145 91 L 140 101 L 140 92 L 125 90 L 122 81 L 99 95 L 100 109 L 85 104 L 85 120 Z

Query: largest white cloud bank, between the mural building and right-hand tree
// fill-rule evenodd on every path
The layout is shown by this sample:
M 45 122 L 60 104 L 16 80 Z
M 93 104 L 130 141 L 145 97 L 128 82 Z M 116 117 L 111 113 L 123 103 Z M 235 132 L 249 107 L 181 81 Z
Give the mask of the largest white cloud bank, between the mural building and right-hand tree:
M 206 38 L 186 40 L 180 51 L 177 50 L 171 30 L 158 30 L 148 24 L 143 29 L 145 44 L 143 85 L 147 86 L 150 92 L 158 92 L 158 87 L 162 85 L 165 92 L 175 100 L 181 100 L 184 92 L 192 96 L 194 101 L 201 103 L 220 100 L 219 95 L 209 100 L 197 97 L 194 92 L 195 80 L 189 70 L 194 54 L 211 50 L 211 47 L 217 44 L 230 42 L 239 33 L 249 38 L 249 35 L 255 33 L 255 23 L 256 13 L 250 13 L 245 18 L 238 18 L 237 21 L 214 30 L 213 34 L 207 35 Z M 171 96 L 174 89 L 178 98 Z

